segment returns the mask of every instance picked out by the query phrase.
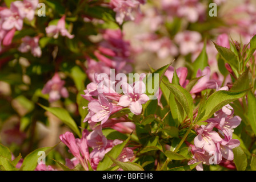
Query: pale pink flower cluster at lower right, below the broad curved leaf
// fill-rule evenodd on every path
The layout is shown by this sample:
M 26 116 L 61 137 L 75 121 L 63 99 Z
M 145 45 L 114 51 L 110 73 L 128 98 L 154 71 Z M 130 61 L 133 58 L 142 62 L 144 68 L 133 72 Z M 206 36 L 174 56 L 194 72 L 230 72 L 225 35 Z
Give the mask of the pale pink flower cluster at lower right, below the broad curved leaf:
M 228 88 L 224 86 L 218 89 L 217 86 L 218 90 Z M 225 164 L 226 160 L 234 159 L 232 149 L 238 147 L 240 142 L 232 137 L 234 129 L 241 123 L 241 118 L 233 114 L 234 110 L 230 105 L 223 106 L 214 114 L 214 118 L 205 121 L 207 125 L 201 125 L 196 129 L 198 135 L 194 139 L 194 145 L 190 144 L 194 160 L 190 160 L 189 165 L 202 162 L 196 169 L 203 170 L 203 164 Z

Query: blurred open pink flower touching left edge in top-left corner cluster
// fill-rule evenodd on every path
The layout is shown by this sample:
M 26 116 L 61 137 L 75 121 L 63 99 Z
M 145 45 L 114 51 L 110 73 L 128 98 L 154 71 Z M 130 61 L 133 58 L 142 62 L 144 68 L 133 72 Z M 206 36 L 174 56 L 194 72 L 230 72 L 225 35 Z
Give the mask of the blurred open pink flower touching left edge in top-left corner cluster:
M 3 19 L 2 28 L 11 30 L 13 28 L 21 30 L 23 27 L 23 19 L 19 14 L 18 7 L 11 3 L 10 9 L 0 11 L 0 17 Z

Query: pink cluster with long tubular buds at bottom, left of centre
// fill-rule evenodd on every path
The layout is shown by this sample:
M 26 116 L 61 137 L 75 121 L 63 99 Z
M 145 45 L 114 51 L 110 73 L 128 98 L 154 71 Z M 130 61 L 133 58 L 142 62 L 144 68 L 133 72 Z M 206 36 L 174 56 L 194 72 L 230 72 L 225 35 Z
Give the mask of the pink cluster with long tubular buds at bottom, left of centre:
M 87 130 L 83 130 L 81 139 L 75 138 L 73 133 L 70 132 L 60 135 L 59 138 L 67 147 L 69 147 L 71 154 L 75 157 L 71 160 L 66 159 L 66 166 L 73 169 L 80 163 L 86 171 L 89 170 L 89 165 L 96 170 L 105 154 L 117 144 L 122 143 L 122 141 L 118 139 L 107 140 L 102 134 L 101 126 L 95 128 L 91 133 Z M 133 150 L 129 147 L 125 147 L 118 160 L 128 162 L 133 160 L 133 156 Z

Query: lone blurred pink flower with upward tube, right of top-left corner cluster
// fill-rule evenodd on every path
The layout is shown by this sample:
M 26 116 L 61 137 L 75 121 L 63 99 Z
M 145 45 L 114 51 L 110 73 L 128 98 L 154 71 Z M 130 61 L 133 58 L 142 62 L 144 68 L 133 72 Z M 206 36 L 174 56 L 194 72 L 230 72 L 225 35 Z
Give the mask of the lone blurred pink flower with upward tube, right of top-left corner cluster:
M 57 39 L 59 36 L 59 33 L 61 33 L 62 36 L 67 36 L 69 39 L 73 39 L 74 35 L 71 35 L 66 27 L 65 27 L 65 18 L 66 16 L 62 16 L 61 19 L 59 19 L 57 26 L 50 25 L 45 28 L 46 34 L 48 36 L 53 36 L 54 39 Z

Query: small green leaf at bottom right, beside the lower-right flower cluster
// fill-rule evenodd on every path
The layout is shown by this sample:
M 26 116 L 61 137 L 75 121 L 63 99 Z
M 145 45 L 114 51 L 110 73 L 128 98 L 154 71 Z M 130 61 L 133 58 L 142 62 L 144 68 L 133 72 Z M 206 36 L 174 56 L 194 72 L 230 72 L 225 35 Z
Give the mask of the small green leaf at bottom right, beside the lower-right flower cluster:
M 245 171 L 247 167 L 247 158 L 245 152 L 243 152 L 241 147 L 233 148 L 234 152 L 234 163 L 238 171 Z

